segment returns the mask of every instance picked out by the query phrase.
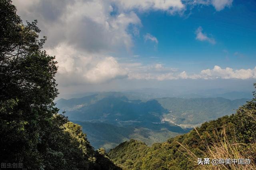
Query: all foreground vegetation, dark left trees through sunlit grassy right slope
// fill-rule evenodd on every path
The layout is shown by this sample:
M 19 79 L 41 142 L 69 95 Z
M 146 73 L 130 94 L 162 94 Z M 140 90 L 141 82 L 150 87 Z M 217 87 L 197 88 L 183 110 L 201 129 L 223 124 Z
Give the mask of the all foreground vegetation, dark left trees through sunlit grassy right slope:
M 22 163 L 22 168 L 32 170 L 256 169 L 256 92 L 235 114 L 166 142 L 149 147 L 131 139 L 108 153 L 104 148 L 94 150 L 82 127 L 70 122 L 65 111 L 60 114 L 54 104 L 57 62 L 42 49 L 46 37 L 39 33 L 37 20 L 23 23 L 11 0 L 0 1 L 1 163 Z M 207 157 L 252 162 L 197 164 L 197 158 Z

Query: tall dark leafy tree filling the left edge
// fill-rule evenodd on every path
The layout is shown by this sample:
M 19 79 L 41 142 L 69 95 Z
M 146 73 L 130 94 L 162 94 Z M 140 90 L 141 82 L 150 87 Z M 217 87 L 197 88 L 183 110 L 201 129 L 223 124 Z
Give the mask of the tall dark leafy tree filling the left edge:
M 38 145 L 58 109 L 54 57 L 41 51 L 37 21 L 22 24 L 10 0 L 0 1 L 0 160 L 40 168 Z

